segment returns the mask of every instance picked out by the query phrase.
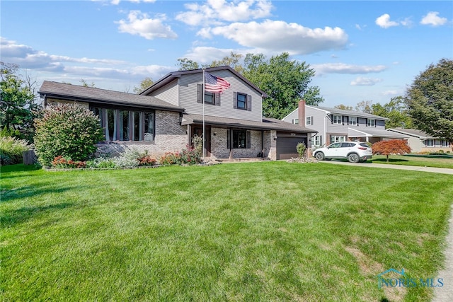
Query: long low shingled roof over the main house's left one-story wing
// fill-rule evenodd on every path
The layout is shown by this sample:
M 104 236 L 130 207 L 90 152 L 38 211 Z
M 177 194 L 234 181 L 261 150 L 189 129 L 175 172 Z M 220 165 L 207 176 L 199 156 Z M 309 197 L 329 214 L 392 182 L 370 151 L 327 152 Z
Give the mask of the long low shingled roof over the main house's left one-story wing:
M 75 102 L 89 102 L 103 105 L 134 106 L 137 108 L 183 112 L 184 108 L 172 105 L 152 96 L 110 91 L 100 88 L 44 81 L 40 88 L 41 97 Z

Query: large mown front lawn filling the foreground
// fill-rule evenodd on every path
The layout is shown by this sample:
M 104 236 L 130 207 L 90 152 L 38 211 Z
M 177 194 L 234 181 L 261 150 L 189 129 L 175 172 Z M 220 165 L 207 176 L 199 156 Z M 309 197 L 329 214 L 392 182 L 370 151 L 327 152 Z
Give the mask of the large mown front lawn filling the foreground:
M 429 301 L 453 176 L 260 162 L 1 169 L 4 301 Z

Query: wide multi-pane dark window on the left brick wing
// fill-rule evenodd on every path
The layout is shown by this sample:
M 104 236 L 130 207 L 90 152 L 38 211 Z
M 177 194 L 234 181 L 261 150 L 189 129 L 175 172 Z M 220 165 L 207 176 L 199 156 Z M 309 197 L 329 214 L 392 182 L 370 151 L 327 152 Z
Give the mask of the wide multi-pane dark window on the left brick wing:
M 105 141 L 154 141 L 154 112 L 93 108 Z

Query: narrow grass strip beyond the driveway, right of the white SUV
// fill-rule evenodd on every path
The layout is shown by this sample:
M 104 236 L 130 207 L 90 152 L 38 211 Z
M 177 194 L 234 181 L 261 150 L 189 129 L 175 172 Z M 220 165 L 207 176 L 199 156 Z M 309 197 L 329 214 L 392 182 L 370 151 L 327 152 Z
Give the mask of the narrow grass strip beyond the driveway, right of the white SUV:
M 387 163 L 386 156 L 374 155 L 373 163 Z M 453 169 L 453 158 L 432 158 L 432 157 L 417 157 L 417 156 L 389 156 L 389 163 L 392 165 L 417 165 L 422 167 L 434 168 L 450 168 Z

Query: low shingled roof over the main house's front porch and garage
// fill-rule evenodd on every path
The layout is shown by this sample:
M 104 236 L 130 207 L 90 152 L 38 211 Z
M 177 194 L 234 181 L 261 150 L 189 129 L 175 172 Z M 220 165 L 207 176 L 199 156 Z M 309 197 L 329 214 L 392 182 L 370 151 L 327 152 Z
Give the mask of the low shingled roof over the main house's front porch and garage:
M 202 115 L 184 114 L 182 124 L 202 124 Z M 304 132 L 304 133 L 315 133 L 315 130 L 308 129 L 298 124 L 291 124 L 289 122 L 283 122 L 282 120 L 276 120 L 268 117 L 263 117 L 263 122 L 254 122 L 249 120 L 236 120 L 229 117 L 213 117 L 205 115 L 205 124 L 212 126 L 225 126 L 225 127 L 237 127 L 247 128 L 256 130 L 278 130 L 288 132 Z

